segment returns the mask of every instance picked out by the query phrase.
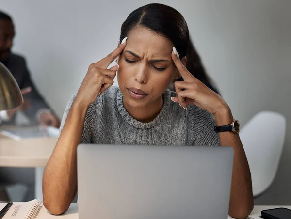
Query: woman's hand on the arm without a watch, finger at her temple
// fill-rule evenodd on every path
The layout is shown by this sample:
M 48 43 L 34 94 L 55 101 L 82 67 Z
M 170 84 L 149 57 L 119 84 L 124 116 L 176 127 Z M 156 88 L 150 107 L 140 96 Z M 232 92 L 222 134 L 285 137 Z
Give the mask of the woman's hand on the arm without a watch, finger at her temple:
M 80 101 L 87 107 L 92 104 L 96 98 L 106 89 L 113 85 L 113 79 L 118 70 L 118 64 L 110 69 L 107 67 L 112 63 L 123 51 L 126 46 L 126 38 L 119 44 L 118 47 L 105 58 L 97 63 L 92 63 L 89 66 L 88 72 L 83 79 L 75 101 Z

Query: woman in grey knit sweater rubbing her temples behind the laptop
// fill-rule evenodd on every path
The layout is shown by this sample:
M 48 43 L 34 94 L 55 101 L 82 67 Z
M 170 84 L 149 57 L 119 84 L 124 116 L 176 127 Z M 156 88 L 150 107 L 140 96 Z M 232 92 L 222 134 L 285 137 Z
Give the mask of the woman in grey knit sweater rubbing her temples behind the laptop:
M 44 205 L 50 213 L 64 213 L 76 196 L 80 143 L 232 145 L 229 215 L 245 218 L 251 212 L 251 175 L 239 135 L 213 130 L 233 121 L 231 111 L 185 67 L 188 41 L 186 21 L 169 6 L 149 4 L 128 16 L 119 46 L 89 66 L 65 109 L 43 176 Z M 115 59 L 118 64 L 107 69 Z M 119 88 L 111 87 L 116 72 Z M 178 95 L 167 90 L 181 77 L 184 81 L 175 83 Z

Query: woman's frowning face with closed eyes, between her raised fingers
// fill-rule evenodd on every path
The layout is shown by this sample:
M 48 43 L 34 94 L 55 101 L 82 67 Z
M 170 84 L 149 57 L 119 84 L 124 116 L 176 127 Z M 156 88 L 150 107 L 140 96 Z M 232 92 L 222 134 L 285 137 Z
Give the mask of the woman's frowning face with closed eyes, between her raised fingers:
M 134 28 L 118 57 L 117 79 L 124 101 L 145 107 L 160 101 L 162 93 L 179 73 L 172 61 L 173 43 L 144 28 Z

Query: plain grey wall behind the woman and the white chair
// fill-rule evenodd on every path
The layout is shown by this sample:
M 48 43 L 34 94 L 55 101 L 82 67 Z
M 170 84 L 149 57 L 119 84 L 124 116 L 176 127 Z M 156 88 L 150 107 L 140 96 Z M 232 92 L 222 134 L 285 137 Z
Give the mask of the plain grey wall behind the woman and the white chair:
M 122 22 L 149 2 L 0 0 L 0 8 L 15 19 L 15 51 L 26 55 L 37 87 L 61 116 L 88 65 L 116 47 Z M 159 2 L 185 16 L 210 76 L 242 125 L 260 110 L 291 121 L 290 0 Z M 288 127 L 275 182 L 256 204 L 291 205 L 290 155 Z

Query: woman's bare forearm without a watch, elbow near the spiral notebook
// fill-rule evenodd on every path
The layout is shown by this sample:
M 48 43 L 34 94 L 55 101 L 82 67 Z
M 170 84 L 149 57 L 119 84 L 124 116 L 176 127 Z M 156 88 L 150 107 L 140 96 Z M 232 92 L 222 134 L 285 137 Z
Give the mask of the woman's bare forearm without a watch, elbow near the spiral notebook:
M 77 193 L 77 146 L 87 107 L 73 103 L 43 175 L 44 205 L 51 214 L 64 213 Z

